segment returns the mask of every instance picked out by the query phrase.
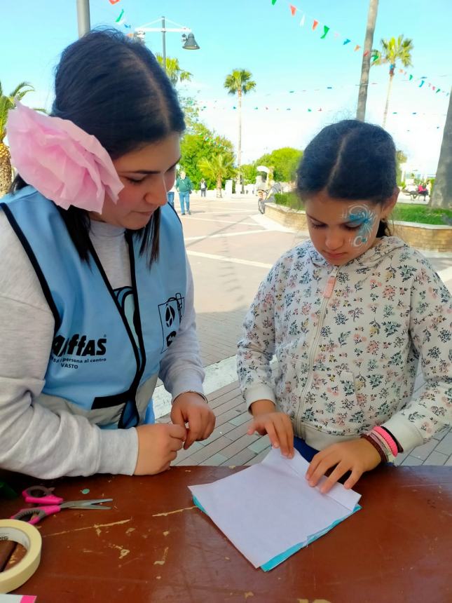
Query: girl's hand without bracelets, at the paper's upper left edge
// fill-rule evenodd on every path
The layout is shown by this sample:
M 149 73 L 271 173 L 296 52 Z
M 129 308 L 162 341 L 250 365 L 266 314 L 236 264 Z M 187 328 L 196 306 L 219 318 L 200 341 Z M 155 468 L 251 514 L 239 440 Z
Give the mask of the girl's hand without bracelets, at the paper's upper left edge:
M 254 419 L 248 426 L 248 435 L 252 435 L 255 431 L 259 435 L 268 434 L 272 447 L 280 448 L 284 456 L 292 459 L 294 430 L 289 416 L 284 412 L 278 412 L 271 400 L 256 400 L 250 409 Z

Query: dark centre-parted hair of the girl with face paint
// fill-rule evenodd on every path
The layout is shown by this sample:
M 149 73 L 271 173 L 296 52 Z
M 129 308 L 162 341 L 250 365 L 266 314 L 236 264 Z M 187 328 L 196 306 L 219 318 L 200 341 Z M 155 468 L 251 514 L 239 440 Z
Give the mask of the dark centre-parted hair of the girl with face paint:
M 327 126 L 306 147 L 297 171 L 303 198 L 326 191 L 332 198 L 384 203 L 397 187 L 395 144 L 380 126 L 344 119 Z M 390 236 L 381 220 L 376 236 Z

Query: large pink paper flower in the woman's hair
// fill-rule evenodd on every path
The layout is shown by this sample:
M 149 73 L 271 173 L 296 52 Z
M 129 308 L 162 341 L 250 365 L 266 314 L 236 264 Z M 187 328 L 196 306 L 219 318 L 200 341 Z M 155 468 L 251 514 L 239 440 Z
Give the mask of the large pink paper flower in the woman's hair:
M 15 105 L 6 133 L 12 163 L 25 182 L 65 210 L 74 205 L 100 213 L 106 194 L 118 201 L 124 185 L 95 136 L 67 119 Z

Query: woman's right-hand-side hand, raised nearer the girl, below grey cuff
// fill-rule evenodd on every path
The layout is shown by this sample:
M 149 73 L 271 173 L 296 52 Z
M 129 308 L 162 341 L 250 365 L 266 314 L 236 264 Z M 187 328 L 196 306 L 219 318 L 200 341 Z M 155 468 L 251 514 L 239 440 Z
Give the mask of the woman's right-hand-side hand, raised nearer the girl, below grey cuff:
M 171 421 L 189 430 L 184 444 L 184 450 L 191 447 L 196 440 L 205 440 L 215 427 L 215 415 L 207 406 L 204 398 L 196 392 L 186 391 L 177 396 L 172 403 Z

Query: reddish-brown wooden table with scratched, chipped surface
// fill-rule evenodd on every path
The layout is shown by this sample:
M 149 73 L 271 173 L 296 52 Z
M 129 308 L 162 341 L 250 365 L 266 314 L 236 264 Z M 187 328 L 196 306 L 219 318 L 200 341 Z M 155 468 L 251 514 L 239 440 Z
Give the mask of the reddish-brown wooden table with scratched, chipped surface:
M 362 510 L 268 573 L 193 508 L 187 488 L 240 469 L 175 467 L 153 477 L 48 482 L 64 499 L 107 496 L 114 508 L 64 510 L 43 520 L 41 565 L 15 592 L 38 595 L 39 603 L 452 602 L 450 468 L 383 467 L 364 475 Z M 8 482 L 17 489 L 39 483 L 11 474 Z M 0 517 L 19 505 L 0 501 Z

